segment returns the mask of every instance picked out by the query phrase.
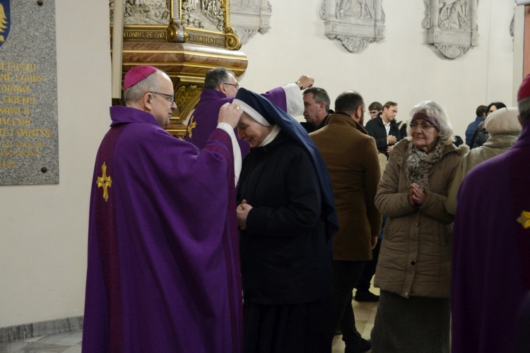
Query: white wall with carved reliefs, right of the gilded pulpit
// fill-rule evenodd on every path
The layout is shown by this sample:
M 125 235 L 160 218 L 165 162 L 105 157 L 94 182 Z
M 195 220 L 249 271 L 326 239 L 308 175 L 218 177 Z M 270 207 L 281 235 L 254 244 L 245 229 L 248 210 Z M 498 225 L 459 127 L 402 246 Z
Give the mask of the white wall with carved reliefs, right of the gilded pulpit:
M 257 33 L 241 49 L 249 59 L 240 80 L 246 88 L 261 92 L 305 73 L 329 92 L 332 108 L 339 93 L 357 90 L 366 104 L 398 102 L 398 121 L 406 119 L 418 102 L 435 100 L 447 109 L 462 138 L 478 105 L 512 104 L 513 1 L 478 1 L 479 46 L 454 60 L 425 44 L 423 1 L 383 1 L 384 40 L 356 54 L 324 36 L 322 0 L 269 1 L 271 30 Z

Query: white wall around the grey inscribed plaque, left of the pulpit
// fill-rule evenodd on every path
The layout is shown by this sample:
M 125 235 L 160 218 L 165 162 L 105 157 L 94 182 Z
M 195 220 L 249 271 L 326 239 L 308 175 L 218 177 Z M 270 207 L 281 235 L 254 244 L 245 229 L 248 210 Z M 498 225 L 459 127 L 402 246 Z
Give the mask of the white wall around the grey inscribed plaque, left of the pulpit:
M 0 186 L 0 327 L 83 315 L 88 197 L 110 125 L 108 3 L 55 3 L 59 185 Z

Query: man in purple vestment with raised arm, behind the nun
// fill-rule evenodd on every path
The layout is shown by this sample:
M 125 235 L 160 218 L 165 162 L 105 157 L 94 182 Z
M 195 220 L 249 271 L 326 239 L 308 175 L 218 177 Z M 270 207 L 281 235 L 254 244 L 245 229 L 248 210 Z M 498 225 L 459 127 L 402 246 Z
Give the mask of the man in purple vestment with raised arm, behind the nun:
M 291 116 L 301 115 L 304 111 L 304 102 L 300 90 L 312 86 L 313 83 L 312 78 L 303 75 L 296 83 L 274 88 L 264 93 L 263 96 Z M 224 67 L 212 68 L 206 73 L 199 104 L 188 120 L 187 141 L 198 148 L 204 148 L 208 137 L 216 128 L 219 108 L 226 102 L 232 102 L 238 88 L 239 83 L 234 73 Z M 250 150 L 249 144 L 244 140 L 239 140 L 239 143 L 241 155 L 245 157 Z

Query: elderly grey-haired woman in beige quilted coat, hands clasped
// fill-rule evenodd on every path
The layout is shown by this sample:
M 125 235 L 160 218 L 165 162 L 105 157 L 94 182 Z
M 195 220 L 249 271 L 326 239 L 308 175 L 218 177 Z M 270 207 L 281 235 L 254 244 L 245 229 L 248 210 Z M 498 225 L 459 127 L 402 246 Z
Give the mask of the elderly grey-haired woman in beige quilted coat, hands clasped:
M 394 147 L 375 205 L 389 217 L 375 286 L 381 289 L 372 352 L 449 352 L 453 217 L 447 190 L 465 147 L 453 145 L 444 109 L 421 102 Z

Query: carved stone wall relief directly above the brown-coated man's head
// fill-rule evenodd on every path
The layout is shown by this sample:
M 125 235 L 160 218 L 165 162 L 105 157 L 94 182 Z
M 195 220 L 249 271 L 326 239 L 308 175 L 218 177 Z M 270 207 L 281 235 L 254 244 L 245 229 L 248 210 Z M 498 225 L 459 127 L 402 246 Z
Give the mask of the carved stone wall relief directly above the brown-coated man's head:
M 384 38 L 382 0 L 324 0 L 320 7 L 324 35 L 341 40 L 350 52 Z

